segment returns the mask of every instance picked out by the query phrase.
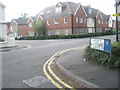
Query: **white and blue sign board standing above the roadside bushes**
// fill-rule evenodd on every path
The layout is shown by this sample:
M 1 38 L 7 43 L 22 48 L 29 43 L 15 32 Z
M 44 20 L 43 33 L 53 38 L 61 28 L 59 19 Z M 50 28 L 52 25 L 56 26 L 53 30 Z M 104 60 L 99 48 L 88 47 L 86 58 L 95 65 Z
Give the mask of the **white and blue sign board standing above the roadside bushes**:
M 90 39 L 90 47 L 92 49 L 104 51 L 104 52 L 111 52 L 111 40 L 110 39 Z

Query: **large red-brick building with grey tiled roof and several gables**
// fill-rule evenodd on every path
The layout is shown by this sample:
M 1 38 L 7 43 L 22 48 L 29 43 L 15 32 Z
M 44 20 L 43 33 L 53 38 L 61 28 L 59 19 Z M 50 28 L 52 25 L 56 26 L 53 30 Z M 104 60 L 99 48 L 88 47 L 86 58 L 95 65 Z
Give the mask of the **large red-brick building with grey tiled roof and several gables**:
M 58 2 L 33 18 L 46 22 L 46 35 L 86 34 L 112 28 L 110 15 L 81 3 Z

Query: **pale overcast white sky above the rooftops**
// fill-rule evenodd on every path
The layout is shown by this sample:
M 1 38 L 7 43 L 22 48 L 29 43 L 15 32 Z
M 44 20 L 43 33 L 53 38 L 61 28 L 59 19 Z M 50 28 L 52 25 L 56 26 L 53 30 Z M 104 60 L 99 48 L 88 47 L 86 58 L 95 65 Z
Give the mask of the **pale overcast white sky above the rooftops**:
M 6 21 L 20 17 L 21 13 L 27 13 L 29 16 L 35 16 L 41 10 L 57 2 L 75 2 L 82 5 L 90 5 L 92 8 L 99 9 L 109 15 L 115 13 L 115 0 L 0 0 L 5 6 Z

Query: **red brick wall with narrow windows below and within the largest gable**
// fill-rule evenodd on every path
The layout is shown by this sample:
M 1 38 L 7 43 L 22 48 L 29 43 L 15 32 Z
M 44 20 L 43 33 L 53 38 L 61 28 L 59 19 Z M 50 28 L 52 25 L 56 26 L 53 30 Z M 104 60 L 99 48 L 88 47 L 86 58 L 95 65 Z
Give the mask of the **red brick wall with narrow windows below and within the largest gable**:
M 78 17 L 78 23 L 76 23 L 76 17 Z M 83 23 L 80 23 L 80 17 L 83 18 Z M 73 27 L 74 28 L 85 28 L 85 27 L 87 27 L 87 21 L 86 21 L 86 23 L 84 23 L 84 18 L 86 18 L 86 15 L 85 15 L 82 7 L 80 6 L 76 15 L 73 16 Z

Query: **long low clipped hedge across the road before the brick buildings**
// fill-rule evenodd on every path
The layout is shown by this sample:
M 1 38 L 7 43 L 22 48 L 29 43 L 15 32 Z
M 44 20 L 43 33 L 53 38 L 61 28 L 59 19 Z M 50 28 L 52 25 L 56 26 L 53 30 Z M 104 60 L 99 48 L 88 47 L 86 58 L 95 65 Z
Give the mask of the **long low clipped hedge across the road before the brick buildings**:
M 104 35 L 114 35 L 114 31 L 96 32 L 79 35 L 51 35 L 51 36 L 24 36 L 24 40 L 45 40 L 45 39 L 73 39 L 73 38 L 85 38 Z M 17 38 L 16 38 L 17 39 Z

